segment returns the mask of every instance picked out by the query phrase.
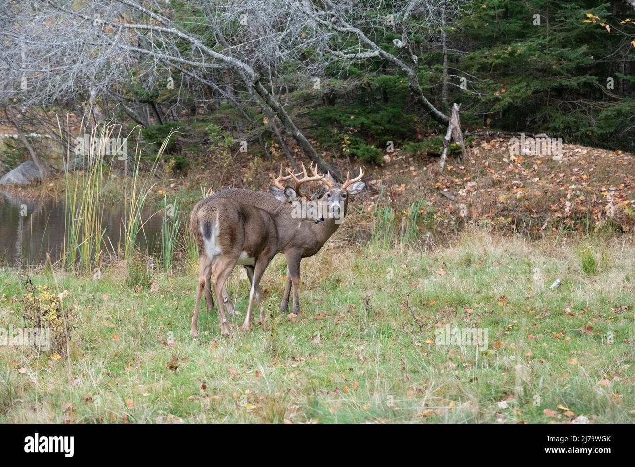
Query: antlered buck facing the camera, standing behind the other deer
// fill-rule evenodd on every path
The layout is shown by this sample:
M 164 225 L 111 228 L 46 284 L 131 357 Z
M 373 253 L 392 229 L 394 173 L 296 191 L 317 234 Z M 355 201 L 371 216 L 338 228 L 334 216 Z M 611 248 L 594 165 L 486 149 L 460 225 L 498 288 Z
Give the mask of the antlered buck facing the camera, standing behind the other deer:
M 330 176 L 330 173 L 327 173 L 326 175 L 319 174 L 317 167 L 317 163 L 315 167 L 312 165 L 309 166 L 312 172 L 312 177 L 308 175 L 304 163 L 302 163 L 302 174 L 296 175 L 291 172 L 291 170 L 287 169 L 287 172 L 290 175 L 287 175 L 286 177 L 294 180 L 295 193 L 297 196 L 302 198 L 307 205 L 311 205 L 312 203 L 315 203 L 315 201 L 313 201 L 309 195 L 300 191 L 300 186 L 308 182 L 321 182 L 324 184 L 326 192 L 323 193 L 318 200 L 322 201 L 321 205 L 326 208 L 325 210 L 327 215 L 323 216 L 323 222 L 312 224 L 309 228 L 303 229 L 302 231 L 295 232 L 285 230 L 280 233 L 281 236 L 283 236 L 283 241 L 281 243 L 284 243 L 285 246 L 283 247 L 282 252 L 286 257 L 287 264 L 286 283 L 283 299 L 280 305 L 280 311 L 282 313 L 286 313 L 288 311 L 291 288 L 293 288 L 292 311 L 295 315 L 299 315 L 301 313 L 299 290 L 300 262 L 302 262 L 302 259 L 311 257 L 321 250 L 324 243 L 331 238 L 344 220 L 351 196 L 359 194 L 366 186 L 366 182 L 362 180 L 364 177 L 364 170 L 361 167 L 359 168 L 359 175 L 353 179 L 351 179 L 351 173 L 348 172 L 346 180 L 342 184 L 335 182 Z M 280 170 L 279 177 L 281 176 L 282 168 Z M 302 176 L 302 179 L 298 178 L 300 176 Z M 277 209 L 276 200 L 279 200 L 279 196 L 281 196 L 280 193 L 283 191 L 283 188 L 284 187 L 279 184 L 272 184 L 269 186 L 269 192 L 271 194 L 241 188 L 227 188 L 211 195 L 211 198 L 236 199 L 241 203 L 260 206 L 271 212 Z M 248 279 L 251 281 L 250 271 L 247 271 L 247 275 Z M 229 294 L 227 293 L 226 288 L 222 290 L 222 294 L 224 303 L 229 305 L 229 309 L 232 309 L 231 300 L 229 299 Z M 206 298 L 208 299 L 208 309 L 211 311 L 213 309 L 213 300 L 211 299 L 211 295 Z

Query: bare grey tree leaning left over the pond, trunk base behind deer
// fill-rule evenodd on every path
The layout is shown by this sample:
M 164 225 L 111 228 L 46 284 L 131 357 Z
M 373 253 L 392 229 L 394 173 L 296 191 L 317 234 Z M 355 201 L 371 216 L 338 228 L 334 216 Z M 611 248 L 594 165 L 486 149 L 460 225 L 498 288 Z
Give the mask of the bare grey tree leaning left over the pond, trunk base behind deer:
M 233 88 L 253 91 L 305 156 L 323 172 L 342 180 L 337 168 L 316 152 L 281 100 L 263 83 L 258 68 L 262 68 L 267 57 L 253 55 L 253 63 L 249 63 L 245 57 L 236 56 L 241 44 L 231 44 L 225 38 L 227 17 L 243 8 L 238 3 L 194 3 L 192 8 L 201 13 L 202 24 L 190 22 L 188 27 L 170 17 L 173 12 L 169 5 L 159 7 L 152 3 L 146 8 L 128 0 L 114 3 L 36 0 L 33 5 L 13 2 L 5 8 L 14 18 L 0 36 L 8 44 L 2 60 L 6 65 L 0 70 L 8 83 L 3 88 L 6 102 L 29 107 L 85 97 L 85 101 L 95 104 L 98 98 L 108 95 L 116 100 L 124 93 L 124 85 L 130 84 L 131 74 L 137 73 L 145 78 L 146 84 L 152 85 L 149 87 L 157 87 L 166 77 L 173 80 L 173 70 L 180 69 L 187 72 L 182 76 L 187 76 L 184 82 L 189 86 L 213 83 L 218 88 L 225 87 L 226 94 Z M 272 4 L 260 8 L 255 16 L 261 21 L 250 27 L 263 27 L 265 32 L 271 32 L 277 39 L 262 37 L 262 41 L 277 43 L 277 50 L 281 50 L 287 36 L 300 33 L 298 25 L 284 17 L 288 9 L 272 18 L 274 10 Z M 233 19 L 235 22 L 236 17 Z M 48 27 L 42 28 L 43 24 Z M 68 30 L 73 34 L 69 35 Z M 19 66 L 11 67 L 12 63 Z M 22 83 L 26 84 L 21 86 Z M 122 106 L 136 121 L 147 123 L 133 106 Z

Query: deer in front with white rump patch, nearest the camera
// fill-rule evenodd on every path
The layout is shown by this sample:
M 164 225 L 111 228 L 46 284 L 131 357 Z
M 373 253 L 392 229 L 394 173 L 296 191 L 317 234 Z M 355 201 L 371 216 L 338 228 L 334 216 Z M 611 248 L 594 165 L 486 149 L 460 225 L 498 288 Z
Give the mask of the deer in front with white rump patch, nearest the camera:
M 271 210 L 241 203 L 237 199 L 215 196 L 208 196 L 194 206 L 190 215 L 190 231 L 199 252 L 199 278 L 190 328 L 192 337 L 196 338 L 198 335 L 198 314 L 203 290 L 208 306 L 213 304 L 210 287 L 212 275 L 214 293 L 218 301 L 221 335 L 229 336 L 229 325 L 224 310 L 224 304 L 228 301 L 222 300 L 222 293 L 225 290 L 227 294 L 225 282 L 237 264 L 246 267 L 251 283 L 247 313 L 241 328 L 250 330 L 254 299 L 258 301 L 260 322 L 264 325 L 260 280 L 265 269 L 293 236 L 302 235 L 309 230 L 310 223 L 324 220 L 323 217 L 318 217 L 318 213 L 312 217 L 293 219 L 293 205 L 301 203 L 302 200 L 295 189 L 281 184 L 292 178 L 296 181 L 296 186 L 304 182 L 295 174 L 283 176 L 281 173 L 273 179 L 272 193 L 276 201 L 269 206 Z

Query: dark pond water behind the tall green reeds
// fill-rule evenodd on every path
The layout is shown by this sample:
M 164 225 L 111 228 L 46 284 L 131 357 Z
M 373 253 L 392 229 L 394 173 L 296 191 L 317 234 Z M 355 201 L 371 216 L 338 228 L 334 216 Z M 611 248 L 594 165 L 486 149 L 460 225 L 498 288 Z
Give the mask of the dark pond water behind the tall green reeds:
M 122 207 L 104 206 L 102 250 L 112 251 L 123 243 L 124 219 Z M 144 228 L 138 234 L 137 247 L 150 255 L 157 254 L 163 217 L 147 210 L 142 219 Z M 41 264 L 47 253 L 52 262 L 58 261 L 64 247 L 64 222 L 64 200 L 26 200 L 0 191 L 0 266 Z

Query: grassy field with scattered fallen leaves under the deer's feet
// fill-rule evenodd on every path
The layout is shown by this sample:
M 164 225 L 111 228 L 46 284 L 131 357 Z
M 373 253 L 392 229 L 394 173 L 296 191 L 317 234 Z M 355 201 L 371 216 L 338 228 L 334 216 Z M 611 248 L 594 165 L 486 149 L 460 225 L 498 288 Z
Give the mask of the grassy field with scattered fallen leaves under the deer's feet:
M 283 271 L 280 256 L 262 283 L 271 312 Z M 427 251 L 324 248 L 303 262 L 302 315 L 271 313 L 249 334 L 230 318 L 229 339 L 215 311 L 190 339 L 193 267 L 141 287 L 128 274 L 32 276 L 68 290 L 77 328 L 61 355 L 0 346 L 0 422 L 635 421 L 625 238 L 476 231 Z M 3 328 L 25 325 L 25 278 L 0 272 Z M 229 290 L 243 315 L 238 271 Z M 439 328 L 480 339 L 441 342 Z

